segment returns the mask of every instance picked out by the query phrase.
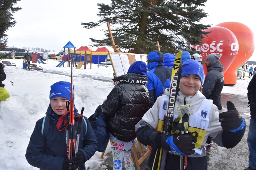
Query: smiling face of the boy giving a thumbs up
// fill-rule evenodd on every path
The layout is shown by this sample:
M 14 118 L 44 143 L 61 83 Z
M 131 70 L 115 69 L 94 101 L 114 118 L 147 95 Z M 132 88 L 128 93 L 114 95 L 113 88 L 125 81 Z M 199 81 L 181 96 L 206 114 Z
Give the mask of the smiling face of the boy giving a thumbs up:
M 180 92 L 186 96 L 194 96 L 201 87 L 201 80 L 198 75 L 188 74 L 180 79 Z

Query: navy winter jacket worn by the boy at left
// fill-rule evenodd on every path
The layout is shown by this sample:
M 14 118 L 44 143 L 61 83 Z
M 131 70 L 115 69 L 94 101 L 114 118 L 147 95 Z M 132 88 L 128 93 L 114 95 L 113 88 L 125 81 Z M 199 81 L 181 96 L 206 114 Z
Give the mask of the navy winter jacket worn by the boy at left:
M 46 115 L 52 112 L 51 105 L 46 112 Z M 75 116 L 79 116 L 77 109 L 75 109 Z M 80 141 L 78 150 L 81 151 L 85 157 L 85 161 L 89 160 L 94 155 L 97 149 L 98 142 L 92 130 L 92 127 L 86 117 L 87 133 L 83 139 L 86 131 L 84 121 L 81 128 Z M 75 128 L 77 131 L 77 122 Z M 67 158 L 67 145 L 65 130 L 59 131 L 56 123 L 50 119 L 49 130 L 46 139 L 41 130 L 43 125 L 43 118 L 36 123 L 35 129 L 30 137 L 29 144 L 26 151 L 27 162 L 38 167 L 41 170 L 62 170 L 64 159 Z M 84 164 L 81 165 L 80 170 L 85 170 Z

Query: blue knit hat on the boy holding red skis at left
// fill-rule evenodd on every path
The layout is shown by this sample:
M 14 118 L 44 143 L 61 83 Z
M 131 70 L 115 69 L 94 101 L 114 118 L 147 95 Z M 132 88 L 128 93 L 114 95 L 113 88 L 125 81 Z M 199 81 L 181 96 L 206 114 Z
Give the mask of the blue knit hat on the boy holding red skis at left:
M 74 91 L 74 86 L 73 86 Z M 71 98 L 71 83 L 66 81 L 59 81 L 51 85 L 50 101 L 55 97 L 65 97 L 70 101 Z M 73 93 L 73 101 L 75 100 Z

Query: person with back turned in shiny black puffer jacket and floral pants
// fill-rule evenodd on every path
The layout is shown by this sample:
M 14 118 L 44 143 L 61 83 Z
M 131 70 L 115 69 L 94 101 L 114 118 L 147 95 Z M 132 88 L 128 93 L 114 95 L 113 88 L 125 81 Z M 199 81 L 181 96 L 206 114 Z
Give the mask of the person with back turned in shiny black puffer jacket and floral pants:
M 126 169 L 135 169 L 131 156 L 136 137 L 135 125 L 149 109 L 146 74 L 147 65 L 142 61 L 134 62 L 127 74 L 113 79 L 117 85 L 102 104 L 110 133 L 113 169 L 122 169 L 123 158 Z

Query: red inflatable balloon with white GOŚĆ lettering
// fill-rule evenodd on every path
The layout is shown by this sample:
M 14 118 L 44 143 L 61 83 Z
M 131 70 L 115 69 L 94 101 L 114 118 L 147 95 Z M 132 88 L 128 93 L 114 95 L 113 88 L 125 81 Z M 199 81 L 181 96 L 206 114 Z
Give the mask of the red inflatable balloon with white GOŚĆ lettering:
M 204 64 L 206 56 L 211 53 L 221 54 L 219 61 L 224 66 L 223 73 L 227 71 L 229 66 L 232 64 L 234 59 L 237 57 L 238 53 L 238 41 L 236 36 L 227 28 L 224 27 L 210 27 L 205 32 L 211 32 L 204 36 L 201 44 L 193 46 L 197 51 L 202 54 L 202 65 L 204 69 L 204 74 L 206 75 L 207 68 Z

